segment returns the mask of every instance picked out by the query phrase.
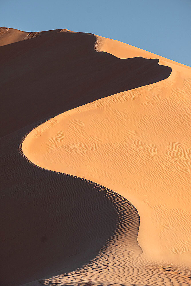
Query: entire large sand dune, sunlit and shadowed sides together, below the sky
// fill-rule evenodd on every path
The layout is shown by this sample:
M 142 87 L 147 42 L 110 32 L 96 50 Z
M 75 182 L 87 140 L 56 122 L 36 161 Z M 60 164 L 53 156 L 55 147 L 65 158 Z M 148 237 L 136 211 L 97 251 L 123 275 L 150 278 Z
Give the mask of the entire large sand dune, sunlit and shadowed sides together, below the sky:
M 65 29 L 0 45 L 1 285 L 190 285 L 190 69 Z

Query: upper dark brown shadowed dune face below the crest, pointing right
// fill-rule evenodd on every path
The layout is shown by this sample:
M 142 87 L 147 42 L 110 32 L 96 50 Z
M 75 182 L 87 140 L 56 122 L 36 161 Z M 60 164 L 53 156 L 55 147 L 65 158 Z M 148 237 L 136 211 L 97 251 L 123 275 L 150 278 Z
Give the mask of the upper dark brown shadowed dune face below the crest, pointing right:
M 119 59 L 95 51 L 95 42 L 92 34 L 52 32 L 0 47 L 0 136 L 170 76 L 158 59 Z

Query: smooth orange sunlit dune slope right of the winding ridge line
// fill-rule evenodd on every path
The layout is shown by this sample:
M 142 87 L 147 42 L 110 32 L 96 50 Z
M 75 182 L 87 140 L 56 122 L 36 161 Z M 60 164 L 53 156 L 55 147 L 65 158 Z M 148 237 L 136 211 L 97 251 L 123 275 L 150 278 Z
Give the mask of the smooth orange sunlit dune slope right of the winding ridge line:
M 156 57 L 96 38 L 97 51 Z M 58 115 L 33 130 L 22 149 L 42 168 L 86 178 L 128 198 L 140 215 L 138 242 L 145 257 L 188 265 L 191 69 L 158 58 L 172 67 L 170 77 Z M 133 80 L 142 77 L 137 72 Z

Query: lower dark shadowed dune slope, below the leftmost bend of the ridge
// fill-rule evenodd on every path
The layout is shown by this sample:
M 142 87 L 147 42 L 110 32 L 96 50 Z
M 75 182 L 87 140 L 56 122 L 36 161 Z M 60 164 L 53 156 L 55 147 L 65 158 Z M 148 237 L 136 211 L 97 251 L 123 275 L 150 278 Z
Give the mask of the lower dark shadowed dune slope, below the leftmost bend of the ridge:
M 126 199 L 92 182 L 39 168 L 21 156 L 22 137 L 34 127 L 0 140 L 2 286 L 80 268 L 119 233 L 129 235 L 130 248 L 134 243 L 139 249 L 139 215 Z

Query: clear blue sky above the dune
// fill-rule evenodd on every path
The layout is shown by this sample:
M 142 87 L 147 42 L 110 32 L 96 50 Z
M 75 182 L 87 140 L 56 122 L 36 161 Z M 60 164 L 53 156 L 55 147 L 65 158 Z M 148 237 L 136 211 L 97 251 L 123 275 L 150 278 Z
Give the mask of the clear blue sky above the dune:
M 93 33 L 191 66 L 190 0 L 0 0 L 0 15 L 2 27 Z

